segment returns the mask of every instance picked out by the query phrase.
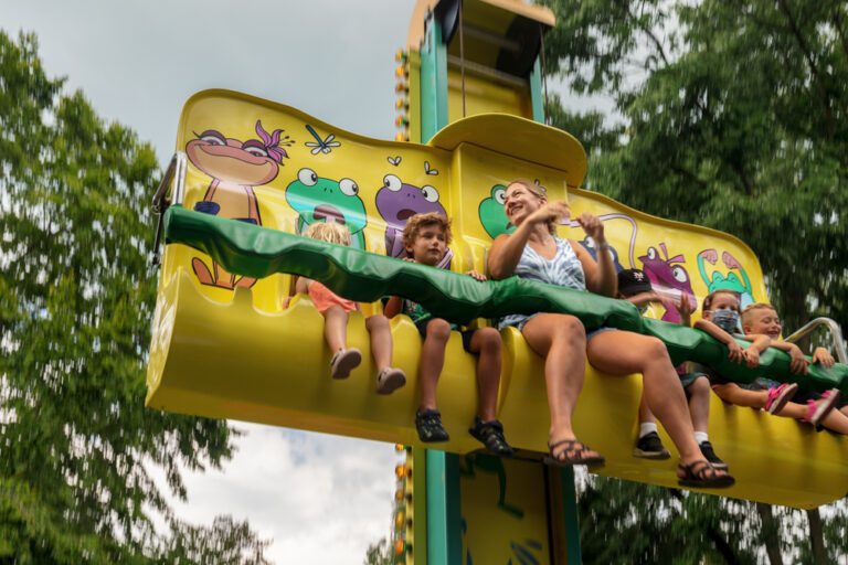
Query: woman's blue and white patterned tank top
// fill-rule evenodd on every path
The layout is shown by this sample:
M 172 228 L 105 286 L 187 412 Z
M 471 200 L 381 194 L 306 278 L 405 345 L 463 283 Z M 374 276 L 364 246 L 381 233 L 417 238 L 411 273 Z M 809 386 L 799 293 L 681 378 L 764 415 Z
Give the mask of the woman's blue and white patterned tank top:
M 521 258 L 518 259 L 515 274 L 521 278 L 559 285 L 575 290 L 586 289 L 586 277 L 583 274 L 583 264 L 571 247 L 568 239 L 553 238 L 556 243 L 556 255 L 548 260 L 539 255 L 530 245 L 524 245 Z M 519 330 L 527 320 L 534 315 L 511 313 L 505 316 L 498 322 L 498 329 L 515 326 Z

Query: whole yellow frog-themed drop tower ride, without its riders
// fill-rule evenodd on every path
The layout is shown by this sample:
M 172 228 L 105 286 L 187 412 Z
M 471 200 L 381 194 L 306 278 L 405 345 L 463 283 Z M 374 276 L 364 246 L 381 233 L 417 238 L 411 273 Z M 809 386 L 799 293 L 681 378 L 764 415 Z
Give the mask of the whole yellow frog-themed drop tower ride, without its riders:
M 324 318 L 308 297 L 293 296 L 295 275 L 362 301 L 364 315 L 380 312 L 384 295 L 415 298 L 462 323 L 521 309 L 572 312 L 587 329 L 657 335 L 676 362 L 725 363 L 717 369 L 741 382 L 765 372 L 848 393 L 836 327 L 840 363 L 831 370 L 798 377 L 785 354 L 770 350 L 757 372 L 730 366 L 723 345 L 674 323 L 676 311 L 655 307 L 657 320 L 644 319 L 624 301 L 457 275 L 486 270 L 492 238 L 511 228 L 504 188 L 528 178 L 568 200 L 573 213 L 591 211 L 605 223 L 617 268 L 642 268 L 655 287 L 693 305 L 720 288 L 739 291 L 743 306 L 767 301 L 760 263 L 744 243 L 580 189 L 582 146 L 543 125 L 541 45 L 553 23 L 548 9 L 520 0 L 418 0 L 399 53 L 395 141 L 244 94 L 198 93 L 183 107 L 178 152 L 153 200 L 157 246 L 163 238 L 165 247 L 147 406 L 409 446 L 398 468 L 399 563 L 580 562 L 571 469 L 538 461 L 549 425 L 542 360 L 518 331 L 501 332 L 498 418 L 520 457 L 481 455 L 466 433 L 476 414 L 475 361 L 452 335 L 437 392 L 452 439 L 424 449 L 414 427 L 415 327 L 403 316 L 392 321 L 405 387 L 378 396 L 370 356 L 347 381 L 332 381 Z M 395 258 L 406 218 L 431 211 L 454 221 L 453 273 Z M 333 221 L 350 228 L 351 247 L 296 235 Z M 560 235 L 593 252 L 576 225 L 564 223 Z M 352 312 L 348 335 L 369 351 L 363 316 Z M 592 472 L 677 488 L 674 459 L 632 457 L 640 391 L 638 375 L 610 377 L 586 365 L 575 431 L 606 457 Z M 841 437 L 714 395 L 710 409 L 710 438 L 736 478 L 722 495 L 813 508 L 848 492 Z

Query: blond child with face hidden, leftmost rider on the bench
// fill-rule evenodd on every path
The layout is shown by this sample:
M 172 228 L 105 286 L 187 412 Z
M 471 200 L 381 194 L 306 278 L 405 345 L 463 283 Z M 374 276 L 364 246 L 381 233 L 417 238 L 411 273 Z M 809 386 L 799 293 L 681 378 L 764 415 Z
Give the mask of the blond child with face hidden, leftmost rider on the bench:
M 335 222 L 315 223 L 304 232 L 306 237 L 350 245 L 350 231 L 343 224 Z M 330 360 L 330 374 L 333 379 L 347 379 L 350 372 L 362 362 L 362 352 L 348 348 L 348 312 L 362 311 L 359 302 L 342 298 L 329 288 L 306 277 L 298 277 L 295 291 L 308 294 L 312 303 L 325 318 L 324 334 L 330 350 L 335 352 Z M 400 369 L 392 367 L 392 332 L 389 319 L 382 315 L 365 318 L 365 328 L 371 334 L 371 353 L 379 371 L 377 373 L 378 394 L 391 394 L 404 384 L 406 375 Z

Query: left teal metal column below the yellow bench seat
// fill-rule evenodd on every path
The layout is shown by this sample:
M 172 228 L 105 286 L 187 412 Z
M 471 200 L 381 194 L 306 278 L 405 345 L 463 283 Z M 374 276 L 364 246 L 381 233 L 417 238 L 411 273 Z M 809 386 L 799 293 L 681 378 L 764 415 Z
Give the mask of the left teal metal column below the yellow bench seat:
M 463 562 L 459 456 L 427 449 L 427 565 Z

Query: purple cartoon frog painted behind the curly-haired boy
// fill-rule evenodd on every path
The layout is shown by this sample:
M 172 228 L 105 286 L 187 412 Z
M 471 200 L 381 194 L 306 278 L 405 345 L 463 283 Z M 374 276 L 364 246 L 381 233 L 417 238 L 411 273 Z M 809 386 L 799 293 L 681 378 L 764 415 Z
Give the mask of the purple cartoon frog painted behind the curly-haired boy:
M 445 206 L 438 202 L 438 191 L 425 184 L 422 188 L 401 182 L 394 174 L 383 177 L 383 186 L 377 191 L 374 199 L 377 210 L 385 220 L 385 254 L 390 257 L 406 257 L 403 247 L 403 227 L 406 221 L 415 214 L 436 212 L 447 217 Z M 445 257 L 437 265 L 449 268 L 453 252 L 447 249 Z

